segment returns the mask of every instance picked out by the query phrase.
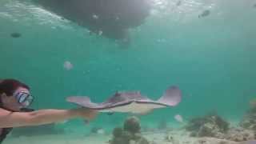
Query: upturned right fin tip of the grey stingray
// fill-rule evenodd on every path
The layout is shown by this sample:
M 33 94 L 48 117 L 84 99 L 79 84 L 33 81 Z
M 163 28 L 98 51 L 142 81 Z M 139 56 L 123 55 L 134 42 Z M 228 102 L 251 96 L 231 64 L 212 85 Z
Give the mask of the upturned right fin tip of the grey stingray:
M 164 103 L 167 106 L 176 106 L 181 101 L 182 92 L 178 89 L 178 86 L 170 86 L 158 100 L 158 102 Z

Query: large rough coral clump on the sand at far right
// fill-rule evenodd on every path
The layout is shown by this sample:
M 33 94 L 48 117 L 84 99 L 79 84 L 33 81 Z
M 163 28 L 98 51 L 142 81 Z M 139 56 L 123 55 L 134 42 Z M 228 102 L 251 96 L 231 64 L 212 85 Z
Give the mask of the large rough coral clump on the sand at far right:
M 243 127 L 230 128 L 229 123 L 222 119 L 218 114 L 208 114 L 202 118 L 194 118 L 190 120 L 186 126 L 190 136 L 193 137 L 212 137 L 226 139 L 230 142 L 244 142 L 255 139 L 254 129 L 246 130 L 244 128 L 252 128 L 255 122 L 255 115 L 252 110 L 248 111 L 246 117 L 241 122 Z

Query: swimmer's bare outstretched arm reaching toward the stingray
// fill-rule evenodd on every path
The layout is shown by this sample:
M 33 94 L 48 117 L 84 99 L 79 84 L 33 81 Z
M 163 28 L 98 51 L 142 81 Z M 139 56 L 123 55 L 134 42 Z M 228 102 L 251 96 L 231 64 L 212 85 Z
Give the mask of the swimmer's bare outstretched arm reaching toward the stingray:
M 62 122 L 71 118 L 92 119 L 96 115 L 94 110 L 84 108 L 71 110 L 36 110 L 32 112 L 11 112 L 0 109 L 0 128 L 19 126 L 38 126 L 53 122 Z

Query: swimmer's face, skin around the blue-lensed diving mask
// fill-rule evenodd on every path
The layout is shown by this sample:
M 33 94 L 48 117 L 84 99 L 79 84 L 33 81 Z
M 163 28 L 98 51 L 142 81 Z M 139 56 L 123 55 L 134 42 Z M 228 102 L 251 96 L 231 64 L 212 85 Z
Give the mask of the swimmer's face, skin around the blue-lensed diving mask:
M 18 92 L 26 92 L 30 94 L 30 90 L 27 90 L 23 87 L 18 87 L 18 89 L 14 91 L 14 94 L 17 94 Z M 22 106 L 22 104 L 18 102 L 18 99 L 14 96 L 14 94 L 8 96 L 5 93 L 2 94 L 2 105 L 7 110 L 20 111 L 20 109 L 24 106 Z

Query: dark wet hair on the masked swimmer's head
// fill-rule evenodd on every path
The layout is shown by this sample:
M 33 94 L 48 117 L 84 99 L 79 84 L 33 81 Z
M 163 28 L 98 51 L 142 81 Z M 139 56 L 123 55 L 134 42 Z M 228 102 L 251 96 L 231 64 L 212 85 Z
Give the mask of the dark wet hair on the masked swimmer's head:
M 19 82 L 18 80 L 0 79 L 0 94 L 6 93 L 7 96 L 12 96 L 14 94 L 14 91 L 17 90 L 19 87 L 30 90 L 29 86 L 26 86 L 26 84 Z

